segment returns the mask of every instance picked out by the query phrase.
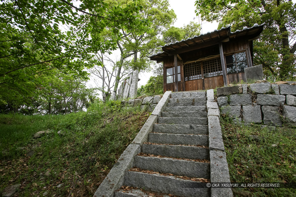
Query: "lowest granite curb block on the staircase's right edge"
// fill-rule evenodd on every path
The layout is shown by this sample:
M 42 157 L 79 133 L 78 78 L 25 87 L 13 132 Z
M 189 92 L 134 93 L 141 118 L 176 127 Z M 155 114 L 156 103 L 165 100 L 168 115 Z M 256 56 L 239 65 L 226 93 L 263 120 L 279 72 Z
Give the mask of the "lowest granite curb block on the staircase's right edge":
M 210 151 L 210 171 L 212 183 L 230 183 L 226 153 Z M 231 188 L 211 188 L 211 197 L 233 197 Z

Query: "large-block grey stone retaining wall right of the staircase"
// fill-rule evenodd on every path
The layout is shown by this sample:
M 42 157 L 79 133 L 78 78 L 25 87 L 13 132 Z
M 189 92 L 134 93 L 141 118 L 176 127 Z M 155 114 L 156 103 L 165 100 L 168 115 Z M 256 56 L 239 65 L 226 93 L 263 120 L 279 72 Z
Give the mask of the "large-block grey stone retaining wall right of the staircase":
M 217 88 L 221 114 L 239 122 L 296 126 L 296 85 L 269 82 Z

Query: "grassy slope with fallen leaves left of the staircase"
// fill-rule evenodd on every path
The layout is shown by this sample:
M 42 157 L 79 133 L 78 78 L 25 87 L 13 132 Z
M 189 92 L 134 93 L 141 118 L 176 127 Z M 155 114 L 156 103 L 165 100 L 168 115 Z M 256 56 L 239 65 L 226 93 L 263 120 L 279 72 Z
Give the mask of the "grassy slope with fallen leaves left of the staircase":
M 0 115 L 0 193 L 21 184 L 15 196 L 92 196 L 148 117 L 118 101 L 67 115 Z

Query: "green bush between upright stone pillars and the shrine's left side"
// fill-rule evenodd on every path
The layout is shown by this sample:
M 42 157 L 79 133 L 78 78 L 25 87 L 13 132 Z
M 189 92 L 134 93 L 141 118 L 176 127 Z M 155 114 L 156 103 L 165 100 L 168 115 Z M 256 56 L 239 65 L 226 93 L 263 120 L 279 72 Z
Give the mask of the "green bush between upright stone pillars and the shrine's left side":
M 147 84 L 138 88 L 137 95 L 160 95 L 163 94 L 163 76 L 151 76 Z

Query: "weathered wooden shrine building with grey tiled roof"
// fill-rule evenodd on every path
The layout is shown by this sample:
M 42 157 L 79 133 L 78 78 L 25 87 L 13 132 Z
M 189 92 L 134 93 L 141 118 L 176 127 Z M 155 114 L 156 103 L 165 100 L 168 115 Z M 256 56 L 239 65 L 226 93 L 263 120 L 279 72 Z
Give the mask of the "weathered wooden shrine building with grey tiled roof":
M 222 27 L 162 47 L 150 59 L 163 62 L 163 91 L 191 91 L 226 87 L 246 78 L 244 68 L 253 66 L 253 40 L 264 23 L 230 31 Z M 177 73 L 177 75 L 175 74 Z

